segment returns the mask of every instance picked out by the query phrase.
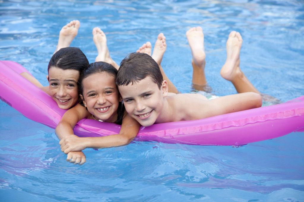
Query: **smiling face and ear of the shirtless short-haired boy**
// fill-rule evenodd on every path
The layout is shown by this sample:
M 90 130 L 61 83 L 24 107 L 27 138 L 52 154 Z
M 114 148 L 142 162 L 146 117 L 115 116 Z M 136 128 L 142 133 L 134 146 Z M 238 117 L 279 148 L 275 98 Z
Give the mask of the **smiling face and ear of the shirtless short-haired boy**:
M 163 81 L 161 89 L 150 77 L 127 86 L 118 86 L 127 113 L 142 126 L 155 123 L 163 109 L 164 97 L 168 93 L 168 85 Z

